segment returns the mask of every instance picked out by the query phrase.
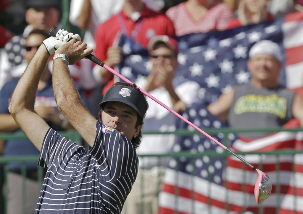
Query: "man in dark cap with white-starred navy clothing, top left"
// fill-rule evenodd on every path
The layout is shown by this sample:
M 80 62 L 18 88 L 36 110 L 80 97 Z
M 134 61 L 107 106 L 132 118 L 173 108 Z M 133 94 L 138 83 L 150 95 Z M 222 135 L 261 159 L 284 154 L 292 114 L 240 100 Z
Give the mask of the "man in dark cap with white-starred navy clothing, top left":
M 22 35 L 13 37 L 2 50 L 0 56 L 0 89 L 14 77 L 20 77 L 26 68 L 25 38 L 33 29 L 48 30 L 56 28 L 60 13 L 59 0 L 27 0 L 25 19 L 28 26 Z

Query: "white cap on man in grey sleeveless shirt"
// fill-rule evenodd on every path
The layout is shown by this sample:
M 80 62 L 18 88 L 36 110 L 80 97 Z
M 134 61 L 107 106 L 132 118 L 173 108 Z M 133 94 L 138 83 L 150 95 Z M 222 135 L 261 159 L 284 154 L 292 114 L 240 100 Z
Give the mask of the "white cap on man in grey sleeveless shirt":
M 279 62 L 283 61 L 280 46 L 270 40 L 261 40 L 254 44 L 249 51 L 249 58 L 259 53 L 268 53 L 274 56 Z

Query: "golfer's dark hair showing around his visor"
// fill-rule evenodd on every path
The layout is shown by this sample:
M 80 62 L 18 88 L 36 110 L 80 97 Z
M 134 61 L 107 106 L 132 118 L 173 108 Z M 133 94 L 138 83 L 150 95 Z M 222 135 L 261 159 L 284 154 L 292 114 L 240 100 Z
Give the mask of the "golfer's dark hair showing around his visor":
M 147 102 L 147 100 L 146 100 L 145 95 L 140 91 L 140 89 L 137 88 L 136 84 L 135 84 L 135 83 L 134 83 L 134 84 L 129 84 L 129 83 L 120 83 L 120 82 L 118 82 L 118 83 L 114 83 L 108 90 L 110 90 L 112 87 L 118 86 L 118 85 L 126 86 L 126 87 L 131 87 L 131 88 L 137 90 L 137 91 L 141 94 L 141 96 L 142 96 L 142 98 L 143 98 L 143 101 L 144 101 L 145 115 L 146 115 L 146 111 L 148 110 L 148 102 Z M 108 91 L 108 90 L 107 90 L 107 91 Z M 107 91 L 106 91 L 106 93 L 107 93 Z M 102 113 L 102 109 L 103 109 L 103 108 L 104 108 L 104 105 L 102 105 L 102 106 L 100 107 L 101 113 Z M 144 117 L 145 117 L 145 115 L 144 115 Z M 142 117 L 137 113 L 137 122 L 136 122 L 135 128 L 137 128 L 139 125 L 143 125 L 143 119 L 144 119 L 144 117 L 142 118 Z M 135 148 L 138 148 L 138 147 L 139 147 L 139 145 L 140 145 L 140 143 L 141 143 L 141 139 L 142 139 L 142 132 L 141 132 L 141 130 L 140 130 L 140 132 L 139 132 L 139 134 L 137 135 L 137 137 L 135 137 L 135 138 L 133 137 L 132 140 L 131 140 L 131 142 L 132 142 L 132 144 L 134 145 Z

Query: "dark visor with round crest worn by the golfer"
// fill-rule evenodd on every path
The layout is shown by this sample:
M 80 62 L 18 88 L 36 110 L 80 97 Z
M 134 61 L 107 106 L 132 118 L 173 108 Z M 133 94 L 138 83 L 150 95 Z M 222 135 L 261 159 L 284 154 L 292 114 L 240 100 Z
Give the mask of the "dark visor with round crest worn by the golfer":
M 102 102 L 99 104 L 100 107 L 109 101 L 117 101 L 124 103 L 132 107 L 138 115 L 143 119 L 146 113 L 144 97 L 136 90 L 131 87 L 117 85 L 109 89 Z

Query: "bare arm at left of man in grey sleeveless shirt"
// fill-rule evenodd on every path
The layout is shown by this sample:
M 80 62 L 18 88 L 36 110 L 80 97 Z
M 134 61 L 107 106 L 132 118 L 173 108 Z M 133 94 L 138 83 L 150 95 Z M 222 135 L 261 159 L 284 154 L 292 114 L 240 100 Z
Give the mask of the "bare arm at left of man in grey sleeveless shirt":
M 207 106 L 209 112 L 217 116 L 221 121 L 227 121 L 228 110 L 231 107 L 234 98 L 235 89 L 231 88 L 228 93 L 222 93 L 221 96 L 212 104 Z

